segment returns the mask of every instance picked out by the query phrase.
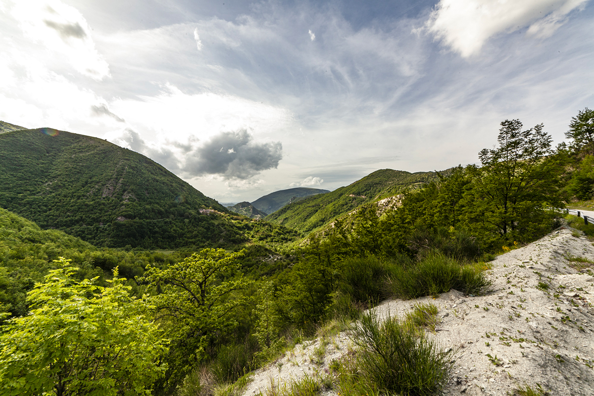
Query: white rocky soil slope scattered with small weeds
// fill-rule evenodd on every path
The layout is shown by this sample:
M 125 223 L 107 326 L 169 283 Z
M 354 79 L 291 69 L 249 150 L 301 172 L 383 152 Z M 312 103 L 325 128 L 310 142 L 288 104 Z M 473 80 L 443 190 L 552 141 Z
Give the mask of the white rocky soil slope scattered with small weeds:
M 375 311 L 403 316 L 417 302 L 438 306 L 434 337 L 444 349 L 457 350 L 445 394 L 511 395 L 516 384 L 527 384 L 550 395 L 594 395 L 594 277 L 592 264 L 575 260 L 594 262 L 594 246 L 576 233 L 561 228 L 498 256 L 483 296 L 452 290 L 437 299 L 387 300 Z M 258 369 L 243 395 L 266 394 L 271 385 L 305 375 L 327 377 L 328 365 L 352 349 L 347 332 L 298 344 Z

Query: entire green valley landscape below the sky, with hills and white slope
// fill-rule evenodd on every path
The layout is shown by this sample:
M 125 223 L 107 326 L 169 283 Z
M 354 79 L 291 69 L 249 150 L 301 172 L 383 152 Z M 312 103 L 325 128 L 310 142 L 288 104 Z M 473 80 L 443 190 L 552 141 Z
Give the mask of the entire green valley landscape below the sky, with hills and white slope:
M 295 387 L 309 387 L 307 395 L 586 387 L 594 359 L 586 347 L 571 363 L 579 384 L 548 378 L 538 367 L 569 362 L 574 345 L 560 342 L 559 328 L 590 342 L 579 330 L 590 326 L 588 297 L 580 293 L 591 286 L 594 224 L 549 208 L 592 198 L 592 154 L 554 149 L 538 128 L 519 134 L 517 123 L 508 123 L 501 123 L 500 146 L 479 153 L 481 166 L 380 169 L 334 191 L 291 188 L 230 208 L 105 140 L 2 123 L 0 311 L 7 313 L 0 394 L 24 394 L 18 378 L 37 372 L 43 375 L 34 378 L 48 382 L 34 382 L 29 394 L 53 392 L 68 365 L 82 379 L 65 381 L 84 392 L 124 392 L 134 382 L 167 396 L 288 396 L 299 394 Z M 580 298 L 564 300 L 565 289 Z M 501 307 L 489 305 L 495 296 Z M 532 314 L 517 311 L 518 304 Z M 569 307 L 566 315 L 569 304 L 576 312 Z M 432 305 L 437 312 L 425 315 Z M 548 305 L 563 311 L 559 323 L 543 310 Z M 119 306 L 145 330 L 128 326 Z M 108 327 L 86 322 L 97 312 L 109 316 Z M 555 331 L 539 318 L 555 321 Z M 515 339 L 511 322 L 536 343 L 516 348 L 507 341 Z M 37 328 L 49 334 L 47 343 L 34 342 Z M 430 349 L 412 371 L 426 377 L 383 360 L 389 340 L 374 337 L 390 331 L 409 340 L 399 359 Z M 483 348 L 477 331 L 497 333 L 501 343 L 488 340 Z M 30 340 L 22 349 L 14 342 L 19 334 Z M 62 336 L 81 349 L 59 347 Z M 128 336 L 155 353 L 136 359 L 133 347 L 114 352 Z M 432 340 L 450 349 L 435 349 Z M 529 347 L 523 356 L 520 349 Z M 56 350 L 64 354 L 54 359 Z M 18 353 L 26 357 L 15 359 Z M 530 370 L 516 369 L 520 357 Z M 130 365 L 134 375 L 108 361 Z M 374 368 L 395 377 L 384 381 Z M 109 372 L 113 385 L 87 376 L 90 370 Z

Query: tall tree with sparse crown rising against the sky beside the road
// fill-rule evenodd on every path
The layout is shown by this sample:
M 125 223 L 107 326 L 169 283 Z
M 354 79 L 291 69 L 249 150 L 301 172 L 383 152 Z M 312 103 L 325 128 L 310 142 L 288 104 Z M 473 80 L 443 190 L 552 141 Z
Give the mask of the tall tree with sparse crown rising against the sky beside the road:
M 527 240 L 550 225 L 549 207 L 563 207 L 563 160 L 552 156 L 551 136 L 543 125 L 522 131 L 520 120 L 505 120 L 499 147 L 479 153 L 482 167 L 467 168 L 474 188 L 467 195 L 473 220 L 504 240 Z M 469 205 L 470 206 L 470 205 Z

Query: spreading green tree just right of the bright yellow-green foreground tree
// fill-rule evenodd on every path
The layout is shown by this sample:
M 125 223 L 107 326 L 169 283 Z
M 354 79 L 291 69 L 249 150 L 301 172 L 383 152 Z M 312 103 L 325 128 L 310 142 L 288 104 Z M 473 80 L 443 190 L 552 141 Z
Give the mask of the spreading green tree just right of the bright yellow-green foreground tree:
M 236 275 L 244 251 L 203 249 L 161 270 L 151 267 L 145 280 L 157 290 L 150 297 L 163 327 L 173 334 L 168 387 L 184 378 L 206 356 L 209 343 L 233 327 L 233 312 L 242 299 L 232 298 L 248 280 Z

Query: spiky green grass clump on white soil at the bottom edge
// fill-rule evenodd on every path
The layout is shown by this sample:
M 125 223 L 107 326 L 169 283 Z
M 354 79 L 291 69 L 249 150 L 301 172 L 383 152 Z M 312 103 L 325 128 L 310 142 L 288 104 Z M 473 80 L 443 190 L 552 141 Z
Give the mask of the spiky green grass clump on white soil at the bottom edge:
M 438 394 L 453 365 L 453 351 L 441 350 L 412 321 L 380 323 L 366 313 L 352 340 L 358 351 L 340 370 L 341 394 Z

